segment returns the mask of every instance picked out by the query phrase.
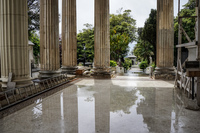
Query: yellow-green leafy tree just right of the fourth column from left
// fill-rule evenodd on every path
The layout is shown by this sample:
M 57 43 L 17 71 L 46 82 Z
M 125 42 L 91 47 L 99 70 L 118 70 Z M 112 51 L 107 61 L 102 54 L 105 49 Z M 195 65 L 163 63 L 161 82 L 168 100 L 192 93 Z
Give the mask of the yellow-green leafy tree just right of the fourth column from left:
M 111 59 L 124 59 L 129 51 L 128 44 L 136 40 L 136 20 L 130 15 L 131 10 L 110 15 L 110 53 Z

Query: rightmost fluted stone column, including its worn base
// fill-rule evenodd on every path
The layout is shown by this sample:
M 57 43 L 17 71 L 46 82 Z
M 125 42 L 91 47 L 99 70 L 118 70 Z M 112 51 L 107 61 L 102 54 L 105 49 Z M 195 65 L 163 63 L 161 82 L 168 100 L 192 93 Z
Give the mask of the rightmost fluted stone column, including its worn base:
M 157 0 L 157 68 L 154 78 L 174 78 L 173 4 L 173 0 Z

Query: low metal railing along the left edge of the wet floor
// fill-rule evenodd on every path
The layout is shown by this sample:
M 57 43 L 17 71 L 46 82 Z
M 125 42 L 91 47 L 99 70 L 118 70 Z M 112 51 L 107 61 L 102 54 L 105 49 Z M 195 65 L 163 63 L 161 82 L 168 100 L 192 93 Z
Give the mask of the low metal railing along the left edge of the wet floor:
M 33 80 L 33 84 L 0 92 L 0 111 L 67 83 L 67 76 Z

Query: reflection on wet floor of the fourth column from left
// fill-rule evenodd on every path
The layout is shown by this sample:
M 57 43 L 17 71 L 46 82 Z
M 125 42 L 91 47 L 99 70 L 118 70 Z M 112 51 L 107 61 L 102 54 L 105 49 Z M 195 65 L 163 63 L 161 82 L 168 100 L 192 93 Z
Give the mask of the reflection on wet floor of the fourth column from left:
M 95 131 L 110 132 L 110 88 L 96 86 L 95 94 Z

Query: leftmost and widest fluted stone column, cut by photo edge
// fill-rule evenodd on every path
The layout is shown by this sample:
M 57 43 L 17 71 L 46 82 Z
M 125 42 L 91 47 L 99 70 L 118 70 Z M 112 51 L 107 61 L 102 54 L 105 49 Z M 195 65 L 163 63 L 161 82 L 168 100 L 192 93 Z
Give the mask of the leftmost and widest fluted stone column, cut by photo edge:
M 0 1 L 0 50 L 3 87 L 9 73 L 17 86 L 31 84 L 27 0 Z

